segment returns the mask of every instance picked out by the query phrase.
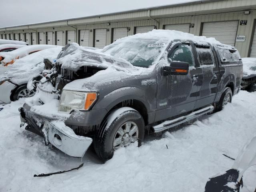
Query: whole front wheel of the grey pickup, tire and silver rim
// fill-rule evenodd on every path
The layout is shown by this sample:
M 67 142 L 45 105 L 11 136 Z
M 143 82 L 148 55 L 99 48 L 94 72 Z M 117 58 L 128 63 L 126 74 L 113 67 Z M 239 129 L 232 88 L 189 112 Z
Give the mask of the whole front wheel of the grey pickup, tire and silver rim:
M 120 147 L 127 147 L 144 139 L 144 120 L 140 113 L 130 107 L 114 110 L 104 126 L 96 133 L 94 149 L 99 158 L 106 162 Z

